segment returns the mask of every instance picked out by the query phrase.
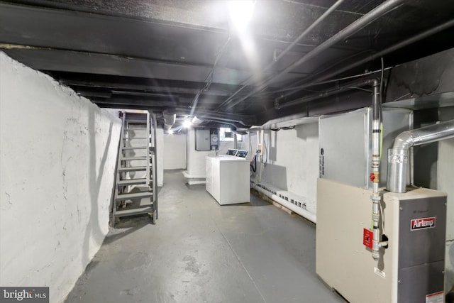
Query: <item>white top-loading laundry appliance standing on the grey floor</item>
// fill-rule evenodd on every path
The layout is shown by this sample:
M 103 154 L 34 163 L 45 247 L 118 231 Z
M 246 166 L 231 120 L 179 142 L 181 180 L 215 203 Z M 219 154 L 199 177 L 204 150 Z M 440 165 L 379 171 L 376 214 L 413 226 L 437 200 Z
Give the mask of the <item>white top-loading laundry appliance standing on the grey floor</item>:
M 250 202 L 249 165 L 234 155 L 206 156 L 206 191 L 221 205 Z

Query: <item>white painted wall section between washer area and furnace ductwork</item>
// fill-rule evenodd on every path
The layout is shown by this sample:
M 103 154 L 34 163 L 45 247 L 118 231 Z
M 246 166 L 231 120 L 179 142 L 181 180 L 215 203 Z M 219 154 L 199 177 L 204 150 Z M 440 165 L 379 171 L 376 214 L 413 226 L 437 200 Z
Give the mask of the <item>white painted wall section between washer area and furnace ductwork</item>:
M 251 141 L 252 153 L 255 153 L 255 134 Z M 316 183 L 319 177 L 318 123 L 301 124 L 292 130 L 267 130 L 264 141 L 267 151 L 265 150 L 263 155 L 266 164 L 262 182 L 305 197 L 306 209 L 316 214 Z M 259 172 L 259 169 L 257 171 Z M 258 181 L 258 174 L 255 181 Z

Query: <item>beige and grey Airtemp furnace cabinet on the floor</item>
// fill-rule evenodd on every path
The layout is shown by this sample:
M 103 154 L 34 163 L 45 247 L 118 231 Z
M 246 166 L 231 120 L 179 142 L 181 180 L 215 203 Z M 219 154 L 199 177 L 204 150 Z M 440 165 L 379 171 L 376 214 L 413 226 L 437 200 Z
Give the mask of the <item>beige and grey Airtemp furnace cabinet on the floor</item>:
M 388 248 L 380 248 L 378 261 L 364 243 L 371 194 L 370 189 L 318 180 L 319 277 L 350 303 L 444 302 L 446 194 L 416 187 L 402 194 L 382 191 L 380 226 Z

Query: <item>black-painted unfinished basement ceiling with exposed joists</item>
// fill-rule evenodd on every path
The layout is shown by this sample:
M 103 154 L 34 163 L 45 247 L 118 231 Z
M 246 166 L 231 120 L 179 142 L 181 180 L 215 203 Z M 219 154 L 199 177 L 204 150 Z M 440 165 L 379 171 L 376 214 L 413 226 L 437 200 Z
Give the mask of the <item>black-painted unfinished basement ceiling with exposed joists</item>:
M 383 13 L 318 51 L 374 10 Z M 229 1 L 0 1 L 0 49 L 101 107 L 248 127 L 304 113 L 306 106 L 279 109 L 276 100 L 284 104 L 342 83 L 313 85 L 320 81 L 380 70 L 380 57 L 392 67 L 453 48 L 453 16 L 454 1 L 257 0 L 248 28 L 236 31 Z M 289 67 L 307 54 L 309 60 Z M 319 102 L 317 114 L 332 112 L 333 102 Z

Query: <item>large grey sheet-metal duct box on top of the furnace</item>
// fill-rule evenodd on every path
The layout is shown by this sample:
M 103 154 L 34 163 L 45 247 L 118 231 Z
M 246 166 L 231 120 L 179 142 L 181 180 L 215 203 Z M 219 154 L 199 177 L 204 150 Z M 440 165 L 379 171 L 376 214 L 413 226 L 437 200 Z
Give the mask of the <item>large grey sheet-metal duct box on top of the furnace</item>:
M 413 127 L 409 109 L 383 109 L 380 187 L 386 185 L 387 150 L 399 133 Z M 372 188 L 372 109 L 323 115 L 319 119 L 319 177 Z M 411 165 L 409 165 L 409 168 Z M 409 172 L 407 172 L 409 175 Z M 410 180 L 407 178 L 407 180 Z

